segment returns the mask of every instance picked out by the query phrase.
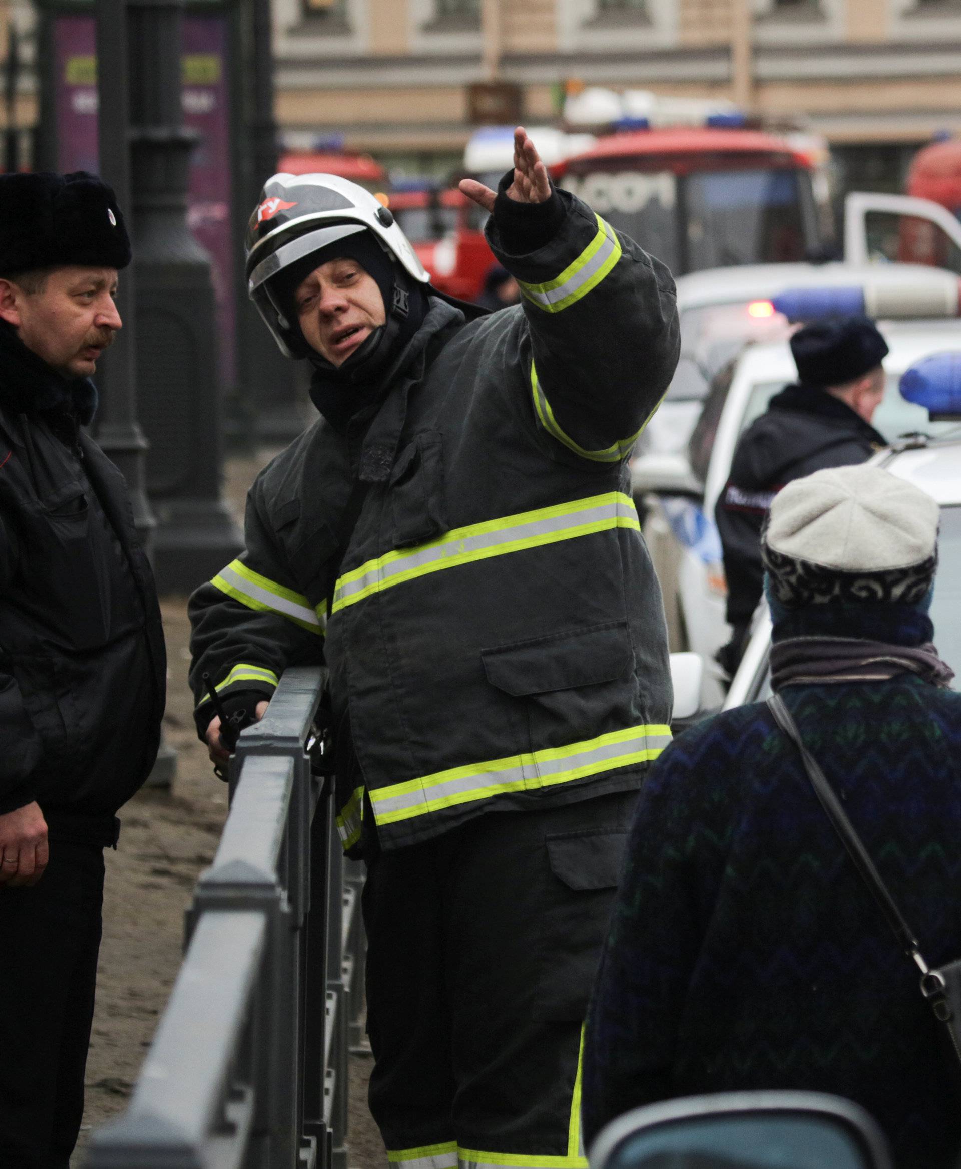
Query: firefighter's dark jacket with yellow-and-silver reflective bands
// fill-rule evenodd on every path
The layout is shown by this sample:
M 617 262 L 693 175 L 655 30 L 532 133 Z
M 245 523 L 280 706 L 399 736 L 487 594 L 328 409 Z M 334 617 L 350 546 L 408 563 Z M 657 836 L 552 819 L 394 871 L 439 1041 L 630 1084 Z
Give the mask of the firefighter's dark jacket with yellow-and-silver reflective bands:
M 201 731 L 203 671 L 230 694 L 326 658 L 360 765 L 337 775 L 348 849 L 365 805 L 392 849 L 487 810 L 636 787 L 669 740 L 663 610 L 626 459 L 676 362 L 674 283 L 558 198 L 559 229 L 531 254 L 488 227 L 523 305 L 464 324 L 432 298 L 363 441 L 369 490 L 342 560 L 357 469 L 320 420 L 260 473 L 246 551 L 191 599 Z

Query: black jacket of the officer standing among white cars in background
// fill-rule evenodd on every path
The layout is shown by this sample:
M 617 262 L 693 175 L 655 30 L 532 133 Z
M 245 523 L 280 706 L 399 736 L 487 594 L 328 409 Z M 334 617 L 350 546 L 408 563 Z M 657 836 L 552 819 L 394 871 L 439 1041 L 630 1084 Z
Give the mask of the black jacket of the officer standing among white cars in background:
M 715 509 L 727 577 L 727 621 L 751 620 L 764 588 L 761 527 L 786 483 L 828 466 L 863 463 L 884 436 L 823 389 L 787 386 L 744 431 Z

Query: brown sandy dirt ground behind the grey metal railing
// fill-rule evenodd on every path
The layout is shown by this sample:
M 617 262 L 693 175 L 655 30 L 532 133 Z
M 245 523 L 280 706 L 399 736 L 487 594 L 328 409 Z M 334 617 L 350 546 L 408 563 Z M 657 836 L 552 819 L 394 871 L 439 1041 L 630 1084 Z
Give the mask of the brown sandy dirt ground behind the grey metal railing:
M 265 461 L 266 452 L 229 461 L 227 492 L 238 513 L 248 483 Z M 84 1162 L 92 1128 L 126 1106 L 176 977 L 191 888 L 214 859 L 228 811 L 227 786 L 214 775 L 190 713 L 186 597 L 165 597 L 162 610 L 168 658 L 165 736 L 177 754 L 176 775 L 172 790 L 145 788 L 126 804 L 119 846 L 105 855 L 104 936 L 75 1167 Z M 370 1065 L 369 1057 L 351 1057 L 351 1169 L 387 1162 L 365 1105 Z

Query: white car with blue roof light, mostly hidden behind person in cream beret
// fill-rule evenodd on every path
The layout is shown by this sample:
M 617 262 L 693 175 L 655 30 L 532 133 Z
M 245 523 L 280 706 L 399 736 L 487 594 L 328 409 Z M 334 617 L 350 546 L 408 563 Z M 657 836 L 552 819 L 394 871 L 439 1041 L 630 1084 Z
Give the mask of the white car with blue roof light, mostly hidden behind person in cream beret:
M 961 689 L 961 337 L 956 345 L 956 350 L 921 358 L 900 379 L 904 397 L 929 416 L 927 434 L 893 443 L 876 455 L 871 465 L 907 479 L 941 506 L 931 618 L 938 652 L 956 675 L 952 685 Z M 760 701 L 771 693 L 770 649 L 771 617 L 762 603 L 725 710 Z

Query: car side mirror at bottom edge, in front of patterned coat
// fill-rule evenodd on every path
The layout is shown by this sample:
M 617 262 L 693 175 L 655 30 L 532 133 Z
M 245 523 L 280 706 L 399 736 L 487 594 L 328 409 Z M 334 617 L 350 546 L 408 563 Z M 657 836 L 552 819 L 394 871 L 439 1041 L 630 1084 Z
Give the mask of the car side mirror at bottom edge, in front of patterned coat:
M 606 1126 L 590 1169 L 891 1169 L 858 1105 L 819 1092 L 729 1092 L 635 1108 Z

